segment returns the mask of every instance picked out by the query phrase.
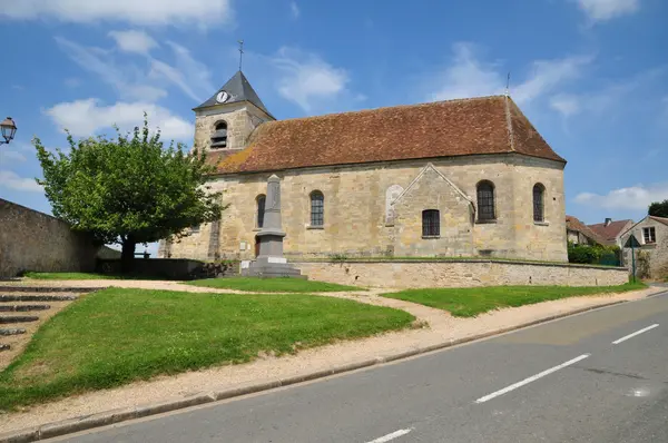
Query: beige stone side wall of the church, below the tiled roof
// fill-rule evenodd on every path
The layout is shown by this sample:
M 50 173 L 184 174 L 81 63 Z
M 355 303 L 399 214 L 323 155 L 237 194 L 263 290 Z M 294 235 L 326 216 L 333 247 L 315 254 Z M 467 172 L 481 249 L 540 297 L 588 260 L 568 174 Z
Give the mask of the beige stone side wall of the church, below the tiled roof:
M 425 171 L 432 163 L 438 174 Z M 422 178 L 418 179 L 423 173 Z M 487 256 L 567 260 L 562 165 L 520 155 L 466 156 L 295 169 L 282 179 L 285 255 L 293 259 L 379 256 Z M 198 234 L 173 244 L 171 257 L 196 259 L 254 257 L 256 198 L 266 193 L 271 173 L 228 175 L 212 180 L 224 193 L 218 233 L 203 226 Z M 477 184 L 495 186 L 495 223 L 478 224 L 464 196 L 475 200 Z M 418 180 L 416 180 L 418 179 Z M 546 223 L 534 224 L 532 188 L 546 187 Z M 412 186 L 412 188 L 411 188 Z M 410 189 L 409 189 L 410 188 Z M 393 196 L 409 189 L 396 204 Z M 310 194 L 324 195 L 324 227 L 310 226 Z M 440 238 L 422 238 L 421 214 L 441 210 Z M 217 235 L 218 234 L 218 235 Z M 209 245 L 216 238 L 218 254 Z

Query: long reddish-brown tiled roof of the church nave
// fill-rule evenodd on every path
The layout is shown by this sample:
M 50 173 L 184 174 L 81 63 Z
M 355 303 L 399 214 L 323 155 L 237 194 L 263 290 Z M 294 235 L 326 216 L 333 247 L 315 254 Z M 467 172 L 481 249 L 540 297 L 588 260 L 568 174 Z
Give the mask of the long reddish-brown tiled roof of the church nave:
M 209 158 L 227 174 L 507 152 L 566 163 L 505 96 L 268 121 Z

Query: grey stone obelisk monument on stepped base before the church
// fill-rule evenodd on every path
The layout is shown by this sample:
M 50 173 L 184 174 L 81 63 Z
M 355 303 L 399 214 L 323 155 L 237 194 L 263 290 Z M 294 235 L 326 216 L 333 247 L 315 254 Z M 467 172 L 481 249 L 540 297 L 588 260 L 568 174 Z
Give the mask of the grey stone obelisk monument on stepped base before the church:
M 255 262 L 242 269 L 248 277 L 301 277 L 301 270 L 287 264 L 283 256 L 283 237 L 281 228 L 281 179 L 272 175 L 267 180 L 267 198 L 265 200 L 264 224 L 257 233 L 259 254 Z

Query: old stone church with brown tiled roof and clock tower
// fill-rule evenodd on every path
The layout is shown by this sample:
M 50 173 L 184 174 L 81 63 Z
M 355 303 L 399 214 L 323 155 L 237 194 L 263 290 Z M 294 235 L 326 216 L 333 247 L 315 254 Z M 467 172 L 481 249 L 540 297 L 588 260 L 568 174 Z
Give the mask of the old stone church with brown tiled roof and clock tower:
M 277 120 L 238 71 L 194 110 L 229 206 L 160 257 L 253 259 L 276 174 L 288 259 L 567 262 L 566 160 L 509 96 Z

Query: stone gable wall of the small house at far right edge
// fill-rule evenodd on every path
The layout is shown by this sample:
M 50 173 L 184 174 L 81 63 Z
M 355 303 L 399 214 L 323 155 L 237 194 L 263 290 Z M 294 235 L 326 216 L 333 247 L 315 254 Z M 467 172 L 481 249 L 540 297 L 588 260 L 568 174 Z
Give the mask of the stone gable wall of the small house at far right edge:
M 654 227 L 656 233 L 656 243 L 646 244 L 642 236 L 642 229 Z M 629 236 L 633 234 L 636 239 L 640 243 L 640 247 L 636 248 L 636 254 L 642 250 L 649 256 L 649 275 L 650 278 L 665 278 L 668 276 L 668 226 L 661 222 L 657 222 L 650 217 L 646 217 L 632 229 L 626 232 L 621 236 L 622 245 L 629 239 Z M 638 255 L 636 255 L 636 258 Z M 631 249 L 623 249 L 623 264 L 629 269 L 631 268 Z

